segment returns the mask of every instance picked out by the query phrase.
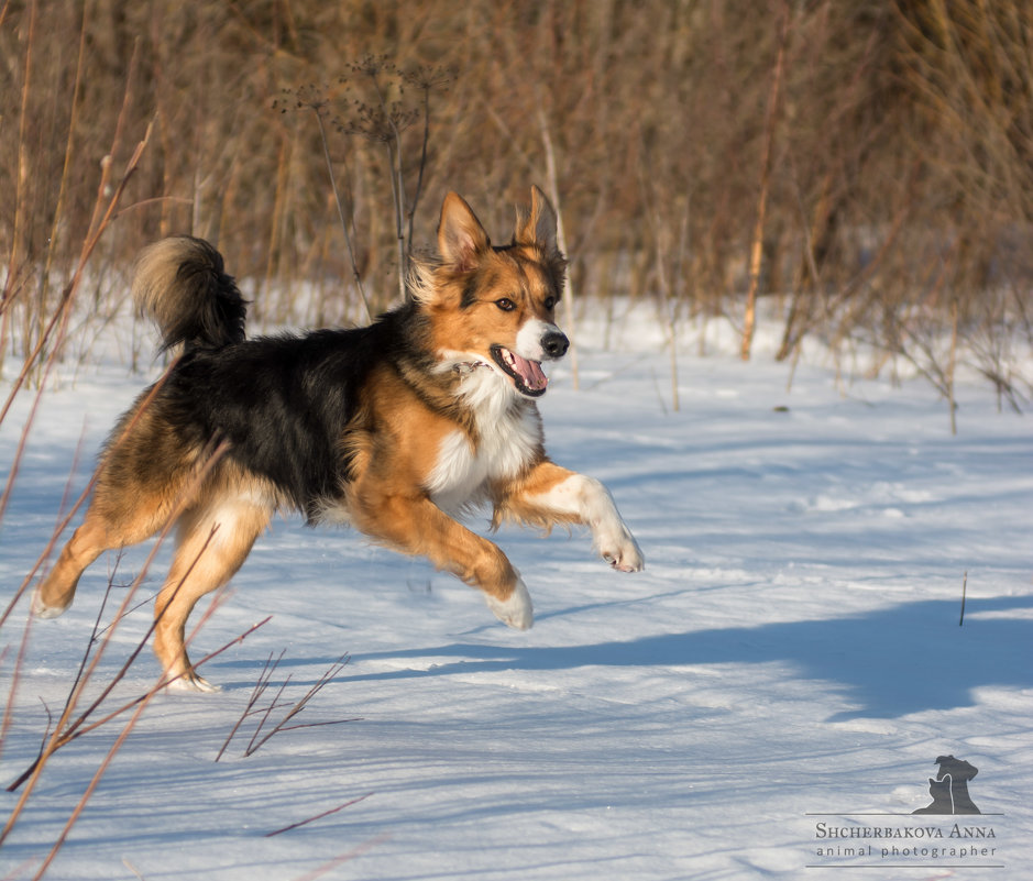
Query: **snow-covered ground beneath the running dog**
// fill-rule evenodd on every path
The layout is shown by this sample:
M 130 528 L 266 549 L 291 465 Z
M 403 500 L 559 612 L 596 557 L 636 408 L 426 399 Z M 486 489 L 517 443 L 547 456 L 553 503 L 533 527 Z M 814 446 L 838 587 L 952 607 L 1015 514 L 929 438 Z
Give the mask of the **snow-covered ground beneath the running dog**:
M 193 654 L 271 620 L 204 668 L 220 694 L 147 706 L 46 877 L 1029 878 L 1033 417 L 963 383 L 952 437 L 921 381 L 813 362 L 788 390 L 763 352 L 695 357 L 688 337 L 675 412 L 648 334 L 584 341 L 581 389 L 561 366 L 541 401 L 549 449 L 611 487 L 646 572 L 609 571 L 582 533 L 505 529 L 537 613 L 515 632 L 422 562 L 277 522 Z M 3 605 L 145 378 L 109 361 L 43 397 L 0 525 Z M 4 473 L 30 403 L 0 426 Z M 109 579 L 119 601 L 146 552 L 98 561 L 64 617 L 31 624 L 20 662 L 25 602 L 0 631 L 3 701 L 20 671 L 3 786 L 59 713 Z M 119 626 L 98 686 L 150 615 Z M 288 703 L 348 654 L 296 722 L 354 720 L 245 756 L 249 719 L 216 762 L 281 652 Z M 157 673 L 147 650 L 118 695 Z M 39 870 L 120 730 L 51 759 L 0 879 Z M 913 816 L 947 755 L 978 769 L 982 813 Z M 4 818 L 15 801 L 0 792 Z

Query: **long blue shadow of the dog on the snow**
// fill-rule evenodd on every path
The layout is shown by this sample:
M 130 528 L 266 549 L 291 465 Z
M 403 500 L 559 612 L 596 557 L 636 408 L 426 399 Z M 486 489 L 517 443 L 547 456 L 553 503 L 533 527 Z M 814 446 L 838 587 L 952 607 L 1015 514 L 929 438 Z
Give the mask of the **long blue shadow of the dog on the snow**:
M 789 662 L 795 676 L 843 690 L 855 706 L 829 718 L 893 718 L 924 709 L 971 706 L 983 686 L 1033 686 L 1033 596 L 906 603 L 858 616 L 729 627 L 644 637 L 627 642 L 524 647 L 455 642 L 436 648 L 356 654 L 353 661 L 440 657 L 429 670 L 342 676 L 341 681 L 419 679 L 517 670 L 548 673 L 581 667 L 692 667 Z M 686 671 L 685 675 L 692 675 Z

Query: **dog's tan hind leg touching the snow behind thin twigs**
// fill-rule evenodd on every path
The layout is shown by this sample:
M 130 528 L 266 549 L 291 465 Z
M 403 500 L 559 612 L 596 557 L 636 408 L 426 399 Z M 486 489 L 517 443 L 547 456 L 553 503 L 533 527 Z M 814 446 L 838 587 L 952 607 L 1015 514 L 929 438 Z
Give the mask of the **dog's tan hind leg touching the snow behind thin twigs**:
M 224 585 L 268 525 L 268 508 L 232 498 L 195 508 L 180 518 L 168 579 L 154 604 L 154 653 L 171 689 L 211 692 L 187 657 L 186 624 L 205 594 Z

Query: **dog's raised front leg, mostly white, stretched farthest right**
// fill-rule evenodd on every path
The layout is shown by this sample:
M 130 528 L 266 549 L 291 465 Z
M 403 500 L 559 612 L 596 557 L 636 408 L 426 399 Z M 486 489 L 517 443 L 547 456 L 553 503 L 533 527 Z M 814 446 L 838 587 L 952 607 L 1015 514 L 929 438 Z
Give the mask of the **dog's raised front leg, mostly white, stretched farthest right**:
M 645 566 L 638 542 L 609 491 L 594 477 L 540 462 L 520 481 L 496 487 L 495 521 L 514 518 L 532 526 L 583 524 L 600 555 L 622 572 Z

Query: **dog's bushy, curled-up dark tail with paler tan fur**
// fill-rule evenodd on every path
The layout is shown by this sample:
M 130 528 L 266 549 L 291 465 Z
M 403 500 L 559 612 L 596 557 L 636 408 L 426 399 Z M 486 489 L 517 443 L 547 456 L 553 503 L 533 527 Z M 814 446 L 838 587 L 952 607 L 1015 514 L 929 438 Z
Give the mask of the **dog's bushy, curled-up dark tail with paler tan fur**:
M 174 235 L 136 260 L 133 300 L 154 319 L 162 349 L 221 349 L 244 339 L 248 304 L 222 255 L 204 239 Z

